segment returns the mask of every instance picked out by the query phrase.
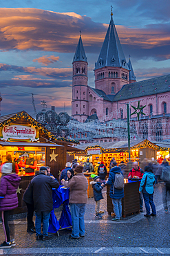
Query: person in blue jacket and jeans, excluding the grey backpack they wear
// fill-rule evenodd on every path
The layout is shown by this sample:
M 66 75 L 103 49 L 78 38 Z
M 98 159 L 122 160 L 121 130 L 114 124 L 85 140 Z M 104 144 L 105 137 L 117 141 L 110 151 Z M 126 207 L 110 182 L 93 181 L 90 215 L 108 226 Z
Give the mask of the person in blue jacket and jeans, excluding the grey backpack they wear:
M 120 167 L 116 165 L 116 161 L 113 161 L 112 168 L 109 172 L 109 178 L 107 181 L 107 184 L 111 185 L 109 195 L 114 205 L 114 213 L 116 214 L 116 217 L 111 219 L 111 221 L 120 221 L 120 218 L 122 217 L 122 198 L 124 197 L 123 188 L 120 190 L 114 188 L 115 175 L 118 173 L 121 173 L 123 175 L 123 172 L 121 171 Z

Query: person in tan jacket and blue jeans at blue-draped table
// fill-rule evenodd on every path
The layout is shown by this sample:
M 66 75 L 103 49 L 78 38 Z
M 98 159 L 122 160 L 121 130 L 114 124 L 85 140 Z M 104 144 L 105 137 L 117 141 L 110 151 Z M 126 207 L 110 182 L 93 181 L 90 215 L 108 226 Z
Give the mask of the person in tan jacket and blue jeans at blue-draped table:
M 61 183 L 70 188 L 70 209 L 72 214 L 72 235 L 70 239 L 79 239 L 85 236 L 85 204 L 87 203 L 88 182 L 83 174 L 83 166 L 78 165 L 74 170 L 74 176 L 69 181 Z

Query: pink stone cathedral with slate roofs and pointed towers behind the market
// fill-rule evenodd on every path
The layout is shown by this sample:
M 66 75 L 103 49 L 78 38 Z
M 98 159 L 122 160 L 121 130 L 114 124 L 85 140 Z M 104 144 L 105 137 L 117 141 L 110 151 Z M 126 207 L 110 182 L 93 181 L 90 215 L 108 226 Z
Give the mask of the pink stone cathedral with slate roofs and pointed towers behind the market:
M 131 64 L 127 62 L 118 38 L 111 11 L 111 20 L 98 60 L 94 67 L 95 88 L 88 86 L 87 57 L 80 35 L 72 62 L 72 118 L 87 122 L 90 118 L 100 121 L 126 120 L 127 103 L 144 107 L 146 116 L 131 116 L 141 138 L 162 140 L 169 138 L 170 75 L 136 82 Z

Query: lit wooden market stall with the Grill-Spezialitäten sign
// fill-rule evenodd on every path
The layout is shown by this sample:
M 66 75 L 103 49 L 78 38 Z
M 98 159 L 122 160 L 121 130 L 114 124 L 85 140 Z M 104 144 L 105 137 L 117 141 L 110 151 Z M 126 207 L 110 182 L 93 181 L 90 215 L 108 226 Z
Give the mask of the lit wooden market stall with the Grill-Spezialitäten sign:
M 73 143 L 76 141 L 55 138 L 25 111 L 0 117 L 1 163 L 6 162 L 6 156 L 10 154 L 12 161 L 17 163 L 18 175 L 21 176 L 17 190 L 19 208 L 15 209 L 14 213 L 25 212 L 23 193 L 41 166 L 49 166 L 52 174 L 58 179 L 59 172 L 65 167 L 67 151 L 75 150 Z M 34 169 L 27 165 L 34 166 Z

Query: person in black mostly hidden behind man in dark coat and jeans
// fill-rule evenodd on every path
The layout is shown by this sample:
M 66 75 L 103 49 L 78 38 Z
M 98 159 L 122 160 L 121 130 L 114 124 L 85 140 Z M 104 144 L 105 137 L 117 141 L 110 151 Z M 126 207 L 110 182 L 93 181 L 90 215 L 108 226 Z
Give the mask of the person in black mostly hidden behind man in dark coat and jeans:
M 34 201 L 33 201 L 33 192 L 31 183 L 28 185 L 28 188 L 25 190 L 23 194 L 23 201 L 27 205 L 27 232 L 35 233 L 34 222 L 32 221 L 34 215 Z

